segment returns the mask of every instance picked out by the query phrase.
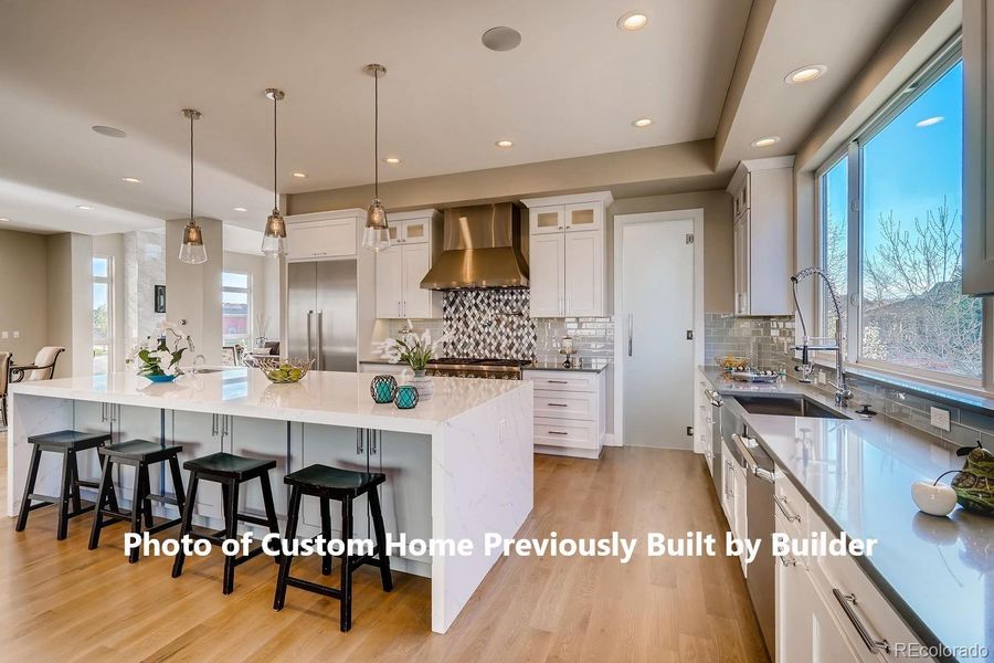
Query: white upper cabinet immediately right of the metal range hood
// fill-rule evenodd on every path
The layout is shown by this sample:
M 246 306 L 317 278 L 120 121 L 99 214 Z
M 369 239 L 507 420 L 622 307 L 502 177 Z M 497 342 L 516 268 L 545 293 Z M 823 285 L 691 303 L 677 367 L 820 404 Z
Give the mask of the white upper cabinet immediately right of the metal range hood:
M 612 201 L 609 191 L 521 201 L 531 235 L 531 317 L 607 315 L 604 218 Z

